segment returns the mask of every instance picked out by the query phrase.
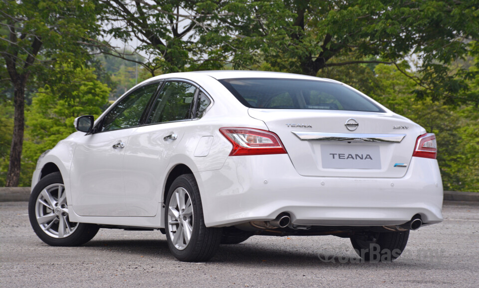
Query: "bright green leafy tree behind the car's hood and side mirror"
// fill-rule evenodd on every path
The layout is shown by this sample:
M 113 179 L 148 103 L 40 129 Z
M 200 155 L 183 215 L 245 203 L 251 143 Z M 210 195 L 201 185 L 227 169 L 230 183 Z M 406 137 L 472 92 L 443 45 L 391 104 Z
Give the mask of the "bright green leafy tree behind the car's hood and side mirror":
M 28 186 L 38 156 L 75 132 L 73 120 L 82 115 L 98 117 L 108 105 L 110 89 L 96 80 L 93 69 L 63 67 L 62 79 L 36 93 L 26 114 L 20 183 Z

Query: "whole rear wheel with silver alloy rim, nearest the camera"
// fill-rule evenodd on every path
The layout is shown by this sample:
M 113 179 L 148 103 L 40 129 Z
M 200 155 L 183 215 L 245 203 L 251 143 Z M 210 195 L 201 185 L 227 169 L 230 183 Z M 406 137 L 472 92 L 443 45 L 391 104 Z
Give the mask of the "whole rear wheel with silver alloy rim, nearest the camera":
M 165 232 L 171 253 L 184 262 L 211 259 L 220 246 L 222 229 L 205 226 L 195 177 L 184 174 L 176 178 L 165 203 Z

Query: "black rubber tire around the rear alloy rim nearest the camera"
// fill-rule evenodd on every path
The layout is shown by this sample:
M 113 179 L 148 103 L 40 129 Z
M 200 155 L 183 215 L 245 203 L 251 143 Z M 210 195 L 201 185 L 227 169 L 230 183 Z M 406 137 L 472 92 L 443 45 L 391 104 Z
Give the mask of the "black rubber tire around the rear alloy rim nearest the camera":
M 188 197 L 188 199 L 191 200 L 191 207 L 193 209 L 191 218 L 188 218 L 188 221 L 191 221 L 189 223 L 192 224 L 191 238 L 186 244 L 181 240 L 181 245 L 186 245 L 182 250 L 177 248 L 172 240 L 172 237 L 174 238 L 179 231 L 179 227 L 170 227 L 171 225 L 169 225 L 168 220 L 170 200 L 175 191 L 178 191 L 177 189 L 181 188 L 188 192 L 188 195 L 185 197 Z M 173 200 L 172 205 L 174 205 L 174 202 L 175 200 Z M 183 262 L 204 262 L 210 260 L 220 246 L 222 228 L 208 228 L 205 226 L 200 190 L 193 174 L 181 175 L 173 181 L 165 200 L 165 206 L 165 232 L 168 247 L 173 256 Z M 181 210 L 179 206 L 178 210 Z

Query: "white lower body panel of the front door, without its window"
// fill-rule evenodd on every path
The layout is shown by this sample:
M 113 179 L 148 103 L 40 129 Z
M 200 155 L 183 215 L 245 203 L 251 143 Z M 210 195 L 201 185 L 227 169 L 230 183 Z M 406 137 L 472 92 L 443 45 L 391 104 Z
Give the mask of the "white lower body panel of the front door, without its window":
M 132 129 L 87 135 L 70 170 L 73 209 L 81 216 L 127 216 L 122 163 Z M 124 143 L 123 148 L 113 145 Z

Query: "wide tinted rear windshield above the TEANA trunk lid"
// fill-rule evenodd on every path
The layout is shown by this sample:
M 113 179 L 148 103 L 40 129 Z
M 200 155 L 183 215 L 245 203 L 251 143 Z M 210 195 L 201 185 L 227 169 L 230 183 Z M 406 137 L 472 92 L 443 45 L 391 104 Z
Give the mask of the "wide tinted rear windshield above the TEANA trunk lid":
M 338 83 L 277 78 L 219 81 L 249 108 L 385 112 L 366 97 Z

